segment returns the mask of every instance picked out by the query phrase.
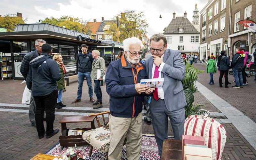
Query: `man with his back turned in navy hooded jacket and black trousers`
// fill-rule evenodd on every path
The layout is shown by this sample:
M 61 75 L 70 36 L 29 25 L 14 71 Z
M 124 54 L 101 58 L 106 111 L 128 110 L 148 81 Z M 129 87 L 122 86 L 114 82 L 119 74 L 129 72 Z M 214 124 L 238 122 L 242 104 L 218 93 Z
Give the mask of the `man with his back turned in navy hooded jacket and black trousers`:
M 56 81 L 61 78 L 59 65 L 52 60 L 52 47 L 50 44 L 42 45 L 40 56 L 31 60 L 29 63 L 28 88 L 32 88 L 36 103 L 36 130 L 38 138 L 52 137 L 59 130 L 53 130 L 55 119 L 55 105 L 57 103 L 58 91 Z M 46 132 L 44 130 L 44 110 L 46 112 Z

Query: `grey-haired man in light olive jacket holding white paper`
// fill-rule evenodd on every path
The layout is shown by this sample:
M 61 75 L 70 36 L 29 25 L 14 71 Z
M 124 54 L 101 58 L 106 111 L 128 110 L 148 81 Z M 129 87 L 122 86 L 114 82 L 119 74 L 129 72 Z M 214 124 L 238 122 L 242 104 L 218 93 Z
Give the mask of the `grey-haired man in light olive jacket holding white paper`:
M 93 109 L 98 109 L 102 107 L 102 92 L 100 88 L 100 81 L 103 79 L 105 75 L 105 60 L 100 57 L 100 52 L 98 50 L 92 51 L 92 58 L 94 59 L 92 62 L 92 73 L 91 78 L 94 80 L 94 93 L 96 94 L 97 101 L 92 103 L 96 105 Z M 98 69 L 100 69 L 100 77 L 98 77 Z

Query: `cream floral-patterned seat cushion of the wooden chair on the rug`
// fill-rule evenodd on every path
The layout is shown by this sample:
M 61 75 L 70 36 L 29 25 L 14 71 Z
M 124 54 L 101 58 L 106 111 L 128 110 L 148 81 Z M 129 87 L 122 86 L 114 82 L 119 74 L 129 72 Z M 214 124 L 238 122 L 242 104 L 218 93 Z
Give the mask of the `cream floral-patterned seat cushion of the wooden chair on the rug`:
M 108 152 L 110 143 L 110 131 L 108 128 L 102 126 L 100 128 L 85 131 L 83 139 L 103 153 Z

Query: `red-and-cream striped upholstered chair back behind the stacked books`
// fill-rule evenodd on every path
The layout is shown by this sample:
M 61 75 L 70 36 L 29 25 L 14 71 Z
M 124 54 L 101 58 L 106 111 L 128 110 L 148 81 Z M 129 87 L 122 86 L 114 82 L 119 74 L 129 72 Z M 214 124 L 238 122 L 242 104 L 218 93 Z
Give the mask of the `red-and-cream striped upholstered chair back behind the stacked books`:
M 227 133 L 219 122 L 199 115 L 188 116 L 184 124 L 184 134 L 203 136 L 205 145 L 212 148 L 212 159 L 222 159 Z

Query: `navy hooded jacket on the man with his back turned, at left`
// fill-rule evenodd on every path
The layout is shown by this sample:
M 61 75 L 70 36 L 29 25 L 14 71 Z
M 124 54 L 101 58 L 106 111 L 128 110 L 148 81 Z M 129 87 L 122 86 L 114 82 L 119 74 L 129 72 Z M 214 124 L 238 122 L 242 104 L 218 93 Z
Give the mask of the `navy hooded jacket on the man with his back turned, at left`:
M 32 86 L 33 96 L 46 96 L 57 90 L 56 81 L 61 78 L 58 63 L 46 53 L 30 61 L 29 76 L 28 89 Z

